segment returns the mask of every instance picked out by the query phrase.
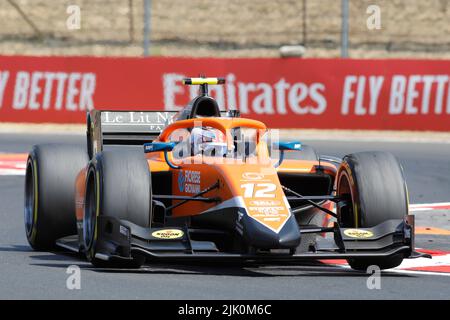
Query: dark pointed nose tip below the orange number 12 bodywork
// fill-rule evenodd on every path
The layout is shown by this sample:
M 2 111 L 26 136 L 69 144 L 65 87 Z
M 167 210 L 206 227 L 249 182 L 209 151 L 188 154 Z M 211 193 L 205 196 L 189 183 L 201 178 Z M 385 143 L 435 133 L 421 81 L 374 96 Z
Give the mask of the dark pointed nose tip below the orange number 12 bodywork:
M 294 249 L 300 245 L 300 229 L 294 216 L 290 216 L 280 230 L 272 230 L 245 215 L 243 231 L 246 242 L 258 249 Z

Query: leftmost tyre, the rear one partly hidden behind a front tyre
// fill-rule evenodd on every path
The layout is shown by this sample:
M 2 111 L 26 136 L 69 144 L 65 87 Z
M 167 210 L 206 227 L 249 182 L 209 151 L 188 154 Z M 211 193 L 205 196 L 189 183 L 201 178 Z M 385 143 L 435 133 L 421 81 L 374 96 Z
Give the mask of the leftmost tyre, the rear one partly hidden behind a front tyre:
M 35 250 L 50 250 L 55 241 L 77 233 L 75 178 L 87 165 L 78 146 L 35 145 L 25 174 L 25 232 Z

